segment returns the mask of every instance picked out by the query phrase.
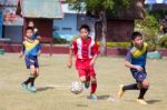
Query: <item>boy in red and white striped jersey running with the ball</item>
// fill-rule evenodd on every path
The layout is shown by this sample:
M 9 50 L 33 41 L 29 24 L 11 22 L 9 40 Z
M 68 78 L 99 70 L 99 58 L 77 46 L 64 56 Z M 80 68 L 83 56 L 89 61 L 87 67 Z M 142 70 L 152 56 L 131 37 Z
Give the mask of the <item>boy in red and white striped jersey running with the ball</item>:
M 82 24 L 79 32 L 80 38 L 72 41 L 67 66 L 68 68 L 71 68 L 72 56 L 75 56 L 76 69 L 78 70 L 80 81 L 85 83 L 86 89 L 89 88 L 89 83 L 91 82 L 90 99 L 97 100 L 97 96 L 95 94 L 97 89 L 97 79 L 94 64 L 99 54 L 98 46 L 89 37 L 90 29 L 87 24 Z

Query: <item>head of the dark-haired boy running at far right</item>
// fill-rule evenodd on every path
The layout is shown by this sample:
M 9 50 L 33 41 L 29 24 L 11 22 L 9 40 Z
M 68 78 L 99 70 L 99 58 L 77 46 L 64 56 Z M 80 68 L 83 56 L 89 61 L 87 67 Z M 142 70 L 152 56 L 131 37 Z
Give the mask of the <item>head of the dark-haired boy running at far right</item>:
M 132 40 L 132 44 L 137 48 L 143 48 L 144 46 L 144 40 L 143 40 L 143 34 L 140 32 L 134 32 L 131 34 L 131 40 Z

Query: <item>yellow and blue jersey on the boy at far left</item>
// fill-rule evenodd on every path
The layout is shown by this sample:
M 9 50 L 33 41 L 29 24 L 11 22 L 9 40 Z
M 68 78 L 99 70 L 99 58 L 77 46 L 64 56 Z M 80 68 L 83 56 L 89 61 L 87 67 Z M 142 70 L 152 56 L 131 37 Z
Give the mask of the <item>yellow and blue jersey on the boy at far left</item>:
M 38 56 L 39 50 L 41 49 L 39 40 L 24 40 L 22 44 L 22 51 L 26 56 Z

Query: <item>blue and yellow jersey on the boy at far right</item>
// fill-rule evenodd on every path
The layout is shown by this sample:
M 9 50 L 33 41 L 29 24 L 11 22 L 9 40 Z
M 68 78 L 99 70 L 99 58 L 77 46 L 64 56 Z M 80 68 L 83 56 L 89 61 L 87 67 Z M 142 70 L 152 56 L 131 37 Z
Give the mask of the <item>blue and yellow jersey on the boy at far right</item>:
M 137 49 L 136 47 L 130 48 L 126 56 L 126 60 L 131 62 L 131 64 L 145 68 L 147 58 L 147 47 L 148 46 L 145 42 L 143 49 Z

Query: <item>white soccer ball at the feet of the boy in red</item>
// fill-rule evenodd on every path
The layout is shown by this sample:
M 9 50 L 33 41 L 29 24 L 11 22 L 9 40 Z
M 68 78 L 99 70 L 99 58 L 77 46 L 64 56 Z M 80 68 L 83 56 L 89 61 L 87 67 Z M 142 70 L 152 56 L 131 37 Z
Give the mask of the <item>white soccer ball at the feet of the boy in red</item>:
M 71 89 L 71 92 L 72 92 L 72 93 L 79 94 L 79 93 L 82 92 L 84 86 L 82 86 L 82 83 L 79 82 L 79 81 L 73 81 L 73 82 L 71 83 L 71 88 L 70 88 L 70 89 Z

